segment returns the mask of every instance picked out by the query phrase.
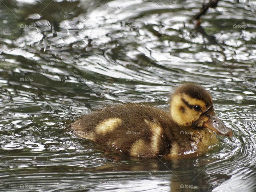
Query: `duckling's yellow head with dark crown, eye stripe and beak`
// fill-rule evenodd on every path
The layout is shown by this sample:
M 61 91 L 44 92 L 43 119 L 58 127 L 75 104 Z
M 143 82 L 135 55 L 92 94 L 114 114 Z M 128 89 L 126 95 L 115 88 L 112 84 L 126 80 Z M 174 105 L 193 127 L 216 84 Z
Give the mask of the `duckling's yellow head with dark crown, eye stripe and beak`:
M 178 87 L 172 95 L 170 104 L 171 117 L 180 127 L 208 128 L 229 137 L 233 134 L 214 116 L 213 99 L 200 85 L 187 83 Z

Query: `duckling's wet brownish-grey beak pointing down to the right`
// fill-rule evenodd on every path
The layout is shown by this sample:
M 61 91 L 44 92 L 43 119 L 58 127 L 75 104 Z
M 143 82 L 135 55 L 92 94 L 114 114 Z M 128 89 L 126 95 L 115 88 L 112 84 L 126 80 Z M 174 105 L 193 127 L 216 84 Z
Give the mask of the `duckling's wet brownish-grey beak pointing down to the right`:
M 209 120 L 204 122 L 203 126 L 213 130 L 218 135 L 226 135 L 228 137 L 232 137 L 233 135 L 233 132 L 229 128 L 227 128 L 224 125 L 224 123 L 215 116 L 210 115 Z

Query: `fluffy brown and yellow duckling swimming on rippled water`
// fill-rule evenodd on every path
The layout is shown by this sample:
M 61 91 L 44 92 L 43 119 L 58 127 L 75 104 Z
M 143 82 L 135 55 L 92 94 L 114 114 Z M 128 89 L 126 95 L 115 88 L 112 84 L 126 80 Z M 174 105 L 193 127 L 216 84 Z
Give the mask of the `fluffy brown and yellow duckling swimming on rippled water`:
M 210 94 L 193 83 L 174 91 L 169 111 L 139 103 L 109 106 L 71 128 L 78 137 L 141 158 L 197 157 L 218 142 L 214 132 L 233 135 L 215 116 Z

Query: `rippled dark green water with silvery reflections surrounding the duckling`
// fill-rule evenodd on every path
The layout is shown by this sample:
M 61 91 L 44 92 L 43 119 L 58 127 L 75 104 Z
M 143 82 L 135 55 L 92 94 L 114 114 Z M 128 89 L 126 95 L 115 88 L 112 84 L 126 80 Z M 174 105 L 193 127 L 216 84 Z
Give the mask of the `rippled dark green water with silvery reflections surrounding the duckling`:
M 1 191 L 255 191 L 256 1 L 1 1 Z M 202 84 L 234 131 L 193 159 L 104 153 L 70 123 L 114 103 L 168 107 Z

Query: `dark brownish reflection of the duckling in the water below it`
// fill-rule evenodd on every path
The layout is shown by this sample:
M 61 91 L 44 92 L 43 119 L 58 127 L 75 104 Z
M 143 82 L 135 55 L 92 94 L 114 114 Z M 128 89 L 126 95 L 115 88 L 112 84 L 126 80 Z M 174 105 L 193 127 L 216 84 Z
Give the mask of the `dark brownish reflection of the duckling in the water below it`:
M 231 178 L 230 175 L 207 171 L 206 166 L 214 160 L 206 155 L 199 158 L 179 159 L 176 161 L 158 158 L 138 159 L 124 154 L 111 155 L 106 152 L 103 153 L 103 156 L 107 159 L 107 162 L 93 172 L 114 171 L 121 175 L 126 175 L 127 171 L 133 171 L 137 172 L 138 175 L 134 179 L 165 178 L 170 182 L 170 191 L 194 191 L 199 189 L 200 191 L 211 191 Z

